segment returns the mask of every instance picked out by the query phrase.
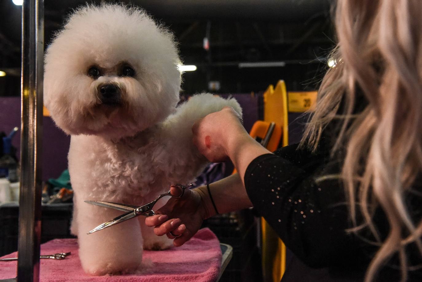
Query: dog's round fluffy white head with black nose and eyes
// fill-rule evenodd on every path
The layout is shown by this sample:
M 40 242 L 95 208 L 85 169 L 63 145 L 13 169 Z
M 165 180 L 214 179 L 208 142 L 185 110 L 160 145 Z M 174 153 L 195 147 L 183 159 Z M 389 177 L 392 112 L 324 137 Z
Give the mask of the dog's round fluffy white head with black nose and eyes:
M 145 11 L 87 5 L 47 49 L 44 103 L 68 134 L 134 135 L 175 110 L 179 63 L 173 36 Z

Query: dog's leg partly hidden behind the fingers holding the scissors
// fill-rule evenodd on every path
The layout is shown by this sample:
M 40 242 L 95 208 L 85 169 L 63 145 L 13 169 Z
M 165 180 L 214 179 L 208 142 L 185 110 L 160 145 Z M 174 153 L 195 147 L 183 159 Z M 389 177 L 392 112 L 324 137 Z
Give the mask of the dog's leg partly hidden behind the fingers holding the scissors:
M 167 203 L 168 199 L 162 199 L 160 202 L 154 205 L 154 210 L 158 210 L 161 208 L 165 203 Z M 154 233 L 154 227 L 148 227 L 145 225 L 145 217 L 138 216 L 139 225 L 141 225 L 142 230 L 142 238 L 143 238 L 143 248 L 146 250 L 164 250 L 173 246 L 173 240 L 167 238 L 165 235 L 157 236 Z

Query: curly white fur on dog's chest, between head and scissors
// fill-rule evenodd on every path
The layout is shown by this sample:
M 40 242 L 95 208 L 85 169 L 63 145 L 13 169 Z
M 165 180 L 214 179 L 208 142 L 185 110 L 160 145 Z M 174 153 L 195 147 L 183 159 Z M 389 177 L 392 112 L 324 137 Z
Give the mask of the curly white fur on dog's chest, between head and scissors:
M 95 190 L 119 200 L 145 197 L 152 191 L 169 187 L 167 173 L 157 163 L 157 151 L 163 145 L 150 133 L 119 140 L 103 142 L 89 158 L 94 163 L 91 171 Z

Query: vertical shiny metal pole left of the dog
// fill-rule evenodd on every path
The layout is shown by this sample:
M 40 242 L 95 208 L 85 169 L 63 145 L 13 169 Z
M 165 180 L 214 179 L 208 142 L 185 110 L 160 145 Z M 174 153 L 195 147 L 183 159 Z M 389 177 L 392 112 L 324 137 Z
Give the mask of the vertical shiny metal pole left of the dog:
M 39 281 L 44 1 L 22 5 L 21 178 L 18 282 Z

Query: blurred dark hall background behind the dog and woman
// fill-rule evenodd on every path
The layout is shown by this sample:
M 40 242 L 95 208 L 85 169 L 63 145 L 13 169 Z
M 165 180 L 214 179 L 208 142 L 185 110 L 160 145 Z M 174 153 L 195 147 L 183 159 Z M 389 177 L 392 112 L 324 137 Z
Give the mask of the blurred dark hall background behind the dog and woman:
M 85 2 L 44 0 L 45 47 L 72 9 Z M 300 140 L 306 120 L 303 112 L 314 105 L 325 71 L 335 65 L 328 59 L 335 46 L 331 0 L 89 2 L 132 3 L 168 27 L 187 67 L 181 99 L 200 92 L 233 95 L 243 108 L 246 130 L 269 150 Z M 21 5 L 22 0 L 0 1 L 0 256 L 16 251 L 18 240 Z M 258 130 L 263 135 L 253 129 L 256 125 L 263 126 Z M 266 137 L 269 142 L 264 144 Z M 42 242 L 71 237 L 69 143 L 70 137 L 45 113 Z M 9 175 L 1 174 L 2 167 Z M 212 164 L 196 185 L 232 172 L 230 163 Z M 288 248 L 251 209 L 214 216 L 204 227 L 211 228 L 220 242 L 233 246 L 233 258 L 220 281 L 278 282 L 288 268 Z

